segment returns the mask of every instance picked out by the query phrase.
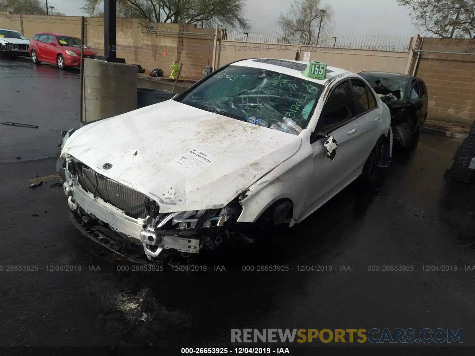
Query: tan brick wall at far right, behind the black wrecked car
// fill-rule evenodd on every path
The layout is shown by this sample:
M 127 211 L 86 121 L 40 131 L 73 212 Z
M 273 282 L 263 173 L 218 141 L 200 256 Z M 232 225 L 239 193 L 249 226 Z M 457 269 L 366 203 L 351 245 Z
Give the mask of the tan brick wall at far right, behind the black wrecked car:
M 424 38 L 422 50 L 475 53 L 475 40 Z M 427 85 L 429 118 L 473 122 L 475 56 L 421 52 L 416 75 Z

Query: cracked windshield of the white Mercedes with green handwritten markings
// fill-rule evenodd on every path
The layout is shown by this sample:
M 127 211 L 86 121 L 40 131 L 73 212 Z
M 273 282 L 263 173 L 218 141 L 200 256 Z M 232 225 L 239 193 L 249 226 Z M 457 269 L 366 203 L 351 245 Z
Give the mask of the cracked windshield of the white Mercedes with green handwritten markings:
M 298 135 L 323 85 L 266 69 L 228 66 L 183 96 L 181 103 Z

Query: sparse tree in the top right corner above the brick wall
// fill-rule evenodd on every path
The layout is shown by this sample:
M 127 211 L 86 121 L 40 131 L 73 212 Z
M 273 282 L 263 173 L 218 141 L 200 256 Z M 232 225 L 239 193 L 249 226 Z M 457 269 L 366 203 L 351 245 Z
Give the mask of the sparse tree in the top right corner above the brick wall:
M 411 9 L 413 24 L 444 38 L 472 38 L 475 35 L 474 0 L 397 0 Z

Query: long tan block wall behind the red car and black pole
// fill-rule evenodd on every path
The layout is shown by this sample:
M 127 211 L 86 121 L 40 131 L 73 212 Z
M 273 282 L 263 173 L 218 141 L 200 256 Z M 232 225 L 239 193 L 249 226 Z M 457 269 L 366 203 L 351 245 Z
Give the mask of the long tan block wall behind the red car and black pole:
M 81 37 L 81 18 L 71 16 L 14 15 L 0 12 L 0 28 L 10 28 L 31 38 L 38 32 Z M 139 64 L 147 72 L 161 68 L 170 75 L 174 60 L 183 58 L 181 77 L 200 79 L 211 65 L 214 29 L 190 24 L 153 23 L 146 19 L 117 19 L 117 56 Z M 104 19 L 85 18 L 85 43 L 104 54 Z

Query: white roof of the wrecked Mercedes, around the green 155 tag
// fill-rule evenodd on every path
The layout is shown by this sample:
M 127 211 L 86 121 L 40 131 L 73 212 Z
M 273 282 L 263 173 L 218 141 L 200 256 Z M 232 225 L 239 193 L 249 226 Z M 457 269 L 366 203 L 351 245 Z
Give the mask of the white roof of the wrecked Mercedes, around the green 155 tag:
M 332 79 L 336 75 L 341 74 L 350 74 L 352 72 L 347 71 L 342 68 L 332 67 L 327 65 L 327 73 L 326 79 L 313 79 L 306 77 L 302 74 L 302 70 L 308 66 L 308 63 L 303 61 L 295 61 L 290 59 L 280 59 L 280 58 L 250 58 L 250 59 L 243 59 L 241 61 L 237 61 L 231 63 L 230 66 L 246 66 L 252 68 L 260 68 L 260 69 L 268 69 L 274 72 L 292 75 L 297 78 L 309 80 L 311 82 L 315 82 L 318 84 L 325 85 L 330 79 Z

